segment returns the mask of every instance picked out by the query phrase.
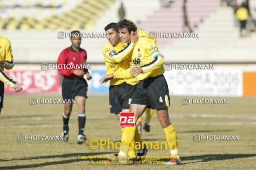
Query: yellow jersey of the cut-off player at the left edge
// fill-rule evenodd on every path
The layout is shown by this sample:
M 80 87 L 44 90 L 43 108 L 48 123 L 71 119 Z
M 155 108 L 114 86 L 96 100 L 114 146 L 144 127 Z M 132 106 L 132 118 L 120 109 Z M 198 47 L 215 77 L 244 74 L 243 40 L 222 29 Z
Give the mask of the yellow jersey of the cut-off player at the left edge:
M 0 36 L 0 61 L 6 61 L 6 69 L 12 69 L 14 67 L 13 49 L 9 39 Z M 16 81 L 5 74 L 4 68 L 0 68 L 0 80 L 14 87 Z

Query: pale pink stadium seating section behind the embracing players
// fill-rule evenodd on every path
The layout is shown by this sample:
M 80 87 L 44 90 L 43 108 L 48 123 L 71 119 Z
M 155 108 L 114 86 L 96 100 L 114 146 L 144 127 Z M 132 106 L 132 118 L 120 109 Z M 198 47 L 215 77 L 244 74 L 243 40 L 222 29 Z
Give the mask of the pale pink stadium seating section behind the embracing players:
M 170 7 L 163 7 L 155 11 L 140 27 L 156 32 L 182 32 L 183 28 L 183 0 L 176 0 Z M 190 26 L 196 27 L 220 7 L 220 0 L 187 0 L 187 16 Z M 159 38 L 158 44 L 168 43 L 171 38 Z

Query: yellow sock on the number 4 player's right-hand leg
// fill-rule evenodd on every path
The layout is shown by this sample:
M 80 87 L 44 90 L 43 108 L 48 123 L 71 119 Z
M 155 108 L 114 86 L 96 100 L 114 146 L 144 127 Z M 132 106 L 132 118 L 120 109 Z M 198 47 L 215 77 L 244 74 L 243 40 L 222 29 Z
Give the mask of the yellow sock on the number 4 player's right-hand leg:
M 170 147 L 171 156 L 179 157 L 178 141 L 175 128 L 171 124 L 168 127 L 164 128 L 164 130 L 168 145 Z

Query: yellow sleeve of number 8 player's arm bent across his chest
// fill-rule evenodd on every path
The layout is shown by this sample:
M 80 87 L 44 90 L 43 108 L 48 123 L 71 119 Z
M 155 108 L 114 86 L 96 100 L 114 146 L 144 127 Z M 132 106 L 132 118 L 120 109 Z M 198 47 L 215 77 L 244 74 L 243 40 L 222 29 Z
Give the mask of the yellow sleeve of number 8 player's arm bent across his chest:
M 104 60 L 107 62 L 119 63 L 134 49 L 134 46 L 135 44 L 130 41 L 119 51 L 109 48 L 110 50 L 106 52 L 105 48 L 103 47 L 102 53 Z

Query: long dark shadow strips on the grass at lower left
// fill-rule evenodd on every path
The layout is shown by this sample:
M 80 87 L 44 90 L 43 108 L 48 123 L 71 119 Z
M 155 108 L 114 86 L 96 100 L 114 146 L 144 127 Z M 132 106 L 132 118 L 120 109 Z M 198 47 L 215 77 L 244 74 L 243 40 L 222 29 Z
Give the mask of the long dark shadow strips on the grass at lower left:
M 55 165 L 55 164 L 66 164 L 66 163 L 72 163 L 72 162 L 78 162 L 78 161 L 106 160 L 105 158 L 79 159 L 78 155 L 95 156 L 95 155 L 108 154 L 108 153 L 115 153 L 115 152 L 66 153 L 66 154 L 59 154 L 59 155 L 46 155 L 46 156 L 22 157 L 22 158 L 13 158 L 13 159 L 0 159 L 0 162 L 1 161 L 12 161 L 12 160 L 15 160 L 17 162 L 17 160 L 33 160 L 33 159 L 47 159 L 47 158 L 71 158 L 74 156 L 76 157 L 75 159 L 67 159 L 67 160 L 60 160 L 60 161 L 48 161 L 48 162 L 35 163 L 35 164 L 0 166 L 0 169 L 42 167 L 42 166 Z

